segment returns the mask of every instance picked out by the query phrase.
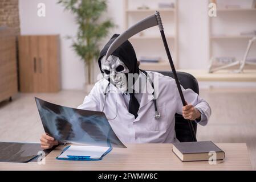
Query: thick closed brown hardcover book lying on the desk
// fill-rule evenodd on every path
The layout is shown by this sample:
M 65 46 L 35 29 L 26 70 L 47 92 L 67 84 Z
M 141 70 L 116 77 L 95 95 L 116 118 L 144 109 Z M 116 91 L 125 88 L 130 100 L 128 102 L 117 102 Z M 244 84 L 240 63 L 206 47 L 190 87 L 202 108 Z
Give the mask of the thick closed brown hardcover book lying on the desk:
M 216 152 L 216 160 L 225 158 L 225 152 L 211 141 L 173 143 L 172 151 L 182 162 L 212 159 L 209 152 L 213 151 Z

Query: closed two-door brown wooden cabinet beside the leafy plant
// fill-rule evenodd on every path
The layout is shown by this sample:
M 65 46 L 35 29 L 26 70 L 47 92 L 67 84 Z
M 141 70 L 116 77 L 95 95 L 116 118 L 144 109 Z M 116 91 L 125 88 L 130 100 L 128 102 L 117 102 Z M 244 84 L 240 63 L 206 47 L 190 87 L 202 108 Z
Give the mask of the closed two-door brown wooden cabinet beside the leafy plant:
M 19 36 L 21 92 L 60 90 L 59 36 Z

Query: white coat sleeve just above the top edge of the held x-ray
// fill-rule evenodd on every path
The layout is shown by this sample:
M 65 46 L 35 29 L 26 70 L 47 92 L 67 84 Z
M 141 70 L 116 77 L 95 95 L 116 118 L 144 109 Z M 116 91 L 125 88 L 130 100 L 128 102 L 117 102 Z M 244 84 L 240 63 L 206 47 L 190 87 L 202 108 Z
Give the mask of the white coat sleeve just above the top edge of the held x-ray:
M 100 101 L 97 97 L 97 85 L 92 88 L 91 92 L 84 98 L 83 104 L 78 109 L 100 111 Z

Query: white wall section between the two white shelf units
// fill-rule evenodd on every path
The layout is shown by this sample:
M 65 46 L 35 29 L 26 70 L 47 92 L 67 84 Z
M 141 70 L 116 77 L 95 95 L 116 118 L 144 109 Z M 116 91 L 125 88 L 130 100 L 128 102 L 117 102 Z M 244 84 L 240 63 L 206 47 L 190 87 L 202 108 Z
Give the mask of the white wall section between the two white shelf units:
M 181 69 L 208 66 L 208 0 L 179 1 L 179 51 Z

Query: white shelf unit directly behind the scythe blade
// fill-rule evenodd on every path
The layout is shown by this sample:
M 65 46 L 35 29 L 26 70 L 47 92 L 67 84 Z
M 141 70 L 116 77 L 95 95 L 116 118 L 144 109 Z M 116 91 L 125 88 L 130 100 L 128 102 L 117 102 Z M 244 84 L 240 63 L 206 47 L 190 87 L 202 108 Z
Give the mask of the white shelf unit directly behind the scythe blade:
M 178 0 L 123 0 L 124 1 L 124 28 L 131 27 L 139 20 L 149 15 L 160 12 L 164 26 L 166 40 L 176 68 L 178 68 Z M 158 8 L 159 2 L 173 2 L 174 8 Z M 147 5 L 149 9 L 137 9 Z M 140 68 L 145 70 L 165 71 L 170 70 L 168 57 L 162 43 L 158 27 L 143 31 L 143 35 L 134 35 L 129 39 L 135 48 L 137 59 L 141 56 L 160 57 L 159 63 L 141 63 Z

